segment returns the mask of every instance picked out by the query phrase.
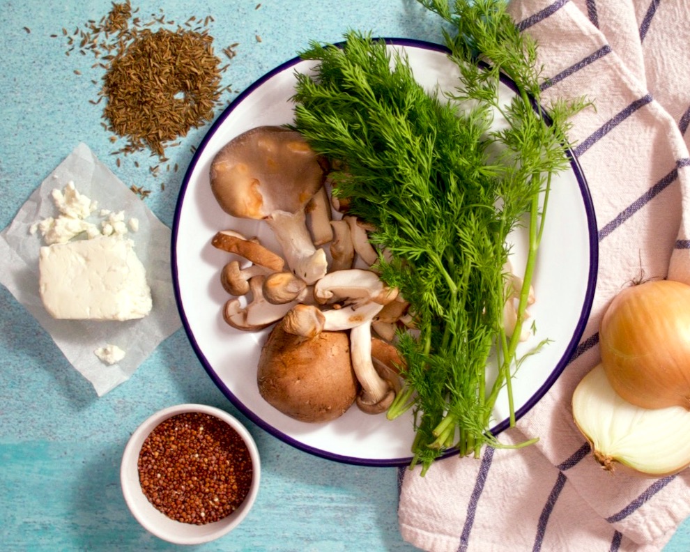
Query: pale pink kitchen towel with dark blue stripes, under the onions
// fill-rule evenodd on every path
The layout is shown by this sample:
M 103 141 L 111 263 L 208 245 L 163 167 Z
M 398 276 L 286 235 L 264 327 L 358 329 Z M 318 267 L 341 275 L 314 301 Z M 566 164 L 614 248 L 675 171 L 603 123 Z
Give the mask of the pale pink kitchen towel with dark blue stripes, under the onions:
M 690 514 L 690 472 L 604 472 L 574 427 L 570 399 L 599 362 L 601 314 L 622 286 L 639 277 L 690 284 L 690 0 L 509 8 L 539 43 L 544 103 L 585 95 L 597 107 L 574 118 L 571 134 L 597 215 L 597 291 L 564 373 L 501 436 L 539 442 L 444 459 L 425 477 L 401 468 L 401 532 L 429 551 L 658 551 Z

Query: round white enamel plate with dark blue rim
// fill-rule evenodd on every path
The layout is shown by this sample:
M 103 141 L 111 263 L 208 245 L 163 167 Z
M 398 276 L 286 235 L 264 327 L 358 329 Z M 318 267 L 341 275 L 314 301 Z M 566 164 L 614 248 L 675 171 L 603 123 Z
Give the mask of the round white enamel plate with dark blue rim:
M 427 89 L 437 84 L 453 89 L 458 72 L 438 45 L 390 40 L 405 50 L 415 76 Z M 178 198 L 173 227 L 172 270 L 178 308 L 194 351 L 209 376 L 247 417 L 284 442 L 320 457 L 367 466 L 399 466 L 411 461 L 411 413 L 390 422 L 385 415 L 367 415 L 356 406 L 325 424 L 297 422 L 275 410 L 259 395 L 256 366 L 270 328 L 241 332 L 222 319 L 229 296 L 220 284 L 228 254 L 210 245 L 217 231 L 236 229 L 259 236 L 275 247 L 261 221 L 233 219 L 218 206 L 210 190 L 210 163 L 217 151 L 237 135 L 259 125 L 292 121 L 296 71 L 308 72 L 313 62 L 291 59 L 252 84 L 225 110 L 197 149 Z M 512 94 L 505 82 L 502 94 Z M 519 267 L 523 236 L 517 233 Z M 546 393 L 567 365 L 587 321 L 597 275 L 597 229 L 585 178 L 574 158 L 569 171 L 558 175 L 549 197 L 546 229 L 539 250 L 534 286 L 537 302 L 530 308 L 537 335 L 523 352 L 542 339 L 549 344 L 523 362 L 513 381 L 518 417 Z M 507 397 L 494 409 L 493 431 L 507 427 Z M 449 453 L 450 454 L 450 453 Z

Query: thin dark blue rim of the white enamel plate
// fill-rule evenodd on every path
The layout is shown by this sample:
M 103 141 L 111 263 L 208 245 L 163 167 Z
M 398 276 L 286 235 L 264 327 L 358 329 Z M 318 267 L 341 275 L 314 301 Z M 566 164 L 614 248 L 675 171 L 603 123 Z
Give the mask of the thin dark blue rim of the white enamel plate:
M 436 43 L 430 43 L 424 40 L 415 40 L 415 39 L 410 39 L 410 38 L 378 38 L 374 40 L 383 40 L 385 41 L 386 44 L 388 45 L 393 45 L 393 46 L 410 46 L 410 47 L 416 47 L 420 49 L 429 49 L 432 51 L 436 52 L 443 52 L 443 53 L 450 53 L 450 50 L 447 49 L 447 47 L 443 45 L 439 45 Z M 342 46 L 343 43 L 336 43 L 336 46 Z M 187 187 L 189 186 L 190 183 L 190 178 L 192 177 L 192 174 L 194 173 L 194 169 L 197 166 L 197 162 L 199 161 L 199 157 L 201 156 L 201 153 L 204 151 L 204 148 L 206 148 L 206 145 L 208 144 L 208 141 L 213 137 L 215 132 L 217 131 L 218 128 L 220 128 L 220 125 L 224 123 L 224 121 L 231 115 L 231 113 L 242 103 L 247 96 L 251 95 L 256 89 L 258 89 L 264 82 L 268 81 L 270 78 L 273 76 L 277 75 L 280 72 L 283 72 L 285 70 L 289 70 L 296 66 L 298 63 L 300 63 L 302 59 L 299 56 L 293 57 L 292 59 L 289 59 L 288 61 L 285 61 L 284 63 L 281 63 L 279 66 L 273 68 L 269 72 L 267 72 L 263 77 L 260 77 L 256 81 L 254 81 L 250 86 L 247 87 L 243 92 L 241 92 L 235 100 L 233 100 L 230 105 L 224 109 L 222 114 L 218 116 L 216 121 L 211 125 L 209 128 L 208 132 L 206 132 L 206 135 L 204 135 L 204 138 L 201 139 L 201 143 L 199 144 L 199 147 L 197 150 L 194 152 L 194 156 L 192 157 L 192 161 L 190 162 L 190 166 L 187 167 L 187 171 L 185 172 L 185 177 L 183 178 L 183 183 L 180 189 L 180 192 L 178 194 L 178 201 L 176 204 L 175 208 L 175 214 L 174 214 L 174 220 L 173 220 L 173 227 L 172 227 L 172 237 L 171 237 L 171 272 L 172 272 L 172 280 L 173 280 L 173 287 L 174 287 L 174 294 L 175 294 L 175 300 L 177 303 L 178 311 L 180 313 L 180 317 L 182 320 L 183 327 L 185 328 L 185 332 L 187 334 L 187 338 L 190 340 L 190 344 L 192 345 L 192 348 L 194 349 L 194 353 L 196 353 L 197 358 L 199 358 L 199 361 L 201 362 L 201 365 L 204 367 L 206 370 L 208 376 L 210 376 L 211 380 L 215 385 L 217 386 L 218 389 L 229 399 L 229 401 L 238 408 L 240 412 L 242 412 L 247 418 L 252 420 L 256 425 L 264 429 L 265 431 L 268 431 L 269 434 L 279 438 L 282 440 L 284 443 L 291 445 L 292 447 L 297 448 L 298 450 L 302 450 L 303 452 L 307 452 L 309 454 L 312 454 L 316 457 L 321 457 L 324 459 L 332 460 L 332 461 L 337 461 L 340 463 L 346 463 L 346 464 L 352 464 L 355 466 L 381 466 L 381 467 L 392 467 L 392 466 L 408 466 L 409 463 L 412 460 L 412 456 L 410 457 L 404 457 L 404 458 L 392 458 L 392 459 L 362 459 L 360 457 L 348 457 L 344 456 L 342 454 L 335 454 L 332 452 L 328 452 L 325 450 L 321 450 L 316 447 L 312 447 L 310 445 L 306 445 L 305 443 L 301 443 L 300 441 L 293 439 L 291 436 L 284 434 L 282 431 L 279 431 L 272 425 L 268 424 L 264 420 L 262 420 L 259 416 L 254 414 L 254 412 L 251 410 L 251 408 L 247 408 L 245 404 L 243 404 L 242 401 L 236 397 L 235 394 L 231 391 L 230 388 L 228 388 L 227 385 L 220 379 L 220 376 L 216 373 L 216 371 L 213 369 L 213 367 L 210 365 L 210 362 L 206 359 L 206 356 L 204 355 L 204 352 L 201 351 L 201 347 L 199 347 L 199 344 L 197 344 L 197 340 L 194 338 L 194 332 L 192 331 L 192 328 L 190 328 L 189 321 L 187 320 L 187 316 L 185 315 L 185 309 L 182 303 L 181 299 L 181 293 L 180 293 L 180 286 L 179 286 L 179 281 L 178 281 L 178 273 L 177 273 L 177 251 L 176 251 L 176 243 L 177 243 L 177 236 L 178 236 L 178 230 L 179 230 L 179 220 L 181 217 L 181 212 L 183 208 L 183 204 L 185 201 L 185 194 L 187 192 Z M 513 91 L 516 91 L 516 86 L 514 82 L 512 82 L 511 79 L 508 77 L 505 77 L 502 75 L 502 81 L 504 84 L 506 84 L 510 89 Z M 535 105 L 535 107 L 537 107 Z M 573 332 L 572 338 L 570 339 L 569 343 L 567 344 L 565 351 L 563 355 L 561 356 L 560 360 L 558 363 L 555 365 L 554 369 L 551 371 L 551 374 L 549 375 L 548 378 L 546 378 L 546 381 L 542 383 L 542 385 L 537 389 L 537 391 L 532 394 L 530 399 L 526 401 L 526 403 L 521 407 L 518 408 L 515 412 L 515 418 L 516 420 L 519 420 L 523 415 L 528 413 L 531 408 L 533 408 L 539 400 L 544 397 L 544 394 L 546 394 L 547 391 L 551 388 L 551 386 L 555 383 L 555 381 L 558 379 L 562 371 L 567 367 L 569 364 L 573 354 L 576 352 L 578 343 L 583 335 L 583 332 L 585 331 L 585 326 L 587 325 L 587 321 L 589 319 L 590 311 L 592 309 L 592 302 L 594 300 L 594 294 L 595 294 L 595 288 L 597 284 L 597 272 L 598 272 L 598 266 L 599 266 L 599 240 L 598 240 L 598 229 L 597 229 L 597 222 L 596 222 L 596 216 L 595 216 L 595 208 L 594 204 L 592 203 L 592 197 L 590 194 L 590 190 L 587 184 L 587 181 L 585 179 L 585 176 L 583 174 L 583 171 L 580 167 L 580 164 L 574 155 L 574 153 L 571 150 L 566 151 L 566 155 L 569 158 L 570 165 L 572 168 L 572 171 L 574 173 L 574 176 L 577 180 L 578 187 L 582 196 L 583 200 L 583 206 L 585 208 L 585 213 L 587 215 L 587 228 L 588 228 L 588 234 L 589 234 L 589 251 L 590 251 L 590 271 L 588 275 L 588 282 L 587 282 L 587 291 L 585 292 L 585 298 L 583 301 L 583 307 L 581 309 L 580 316 L 578 318 L 577 324 L 576 324 L 576 329 Z M 502 431 L 505 431 L 505 429 L 509 428 L 509 420 L 503 420 L 502 422 L 499 422 L 495 426 L 491 427 L 489 431 L 491 431 L 492 434 L 498 435 Z M 442 458 L 445 457 L 450 457 L 453 456 L 454 454 L 457 454 L 457 450 L 450 449 L 444 452 L 442 454 Z

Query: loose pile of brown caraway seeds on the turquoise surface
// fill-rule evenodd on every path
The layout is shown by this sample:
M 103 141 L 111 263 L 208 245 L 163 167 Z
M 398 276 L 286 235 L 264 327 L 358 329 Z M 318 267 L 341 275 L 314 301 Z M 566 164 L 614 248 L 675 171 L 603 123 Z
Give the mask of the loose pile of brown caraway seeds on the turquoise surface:
M 84 29 L 63 29 L 66 54 L 91 52 L 97 59 L 93 68 L 105 70 L 100 98 L 91 101 L 106 100 L 103 126 L 114 133 L 113 142 L 118 137 L 127 141 L 113 153 L 148 148 L 164 162 L 167 146 L 178 145 L 176 140 L 189 130 L 213 120 L 222 93 L 230 89 L 221 87 L 228 65 L 221 66 L 213 53 L 208 33 L 213 17 L 190 17 L 177 25 L 155 14 L 142 22 L 137 12 L 126 0 L 113 3 L 106 16 L 89 21 Z M 232 59 L 237 46 L 222 52 Z

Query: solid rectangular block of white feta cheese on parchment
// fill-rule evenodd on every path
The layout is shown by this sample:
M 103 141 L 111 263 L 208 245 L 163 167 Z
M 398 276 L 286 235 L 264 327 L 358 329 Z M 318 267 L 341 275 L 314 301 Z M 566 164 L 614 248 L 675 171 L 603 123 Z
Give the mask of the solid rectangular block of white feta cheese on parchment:
M 151 289 L 134 242 L 122 236 L 40 248 L 40 297 L 56 319 L 132 320 L 151 312 Z

